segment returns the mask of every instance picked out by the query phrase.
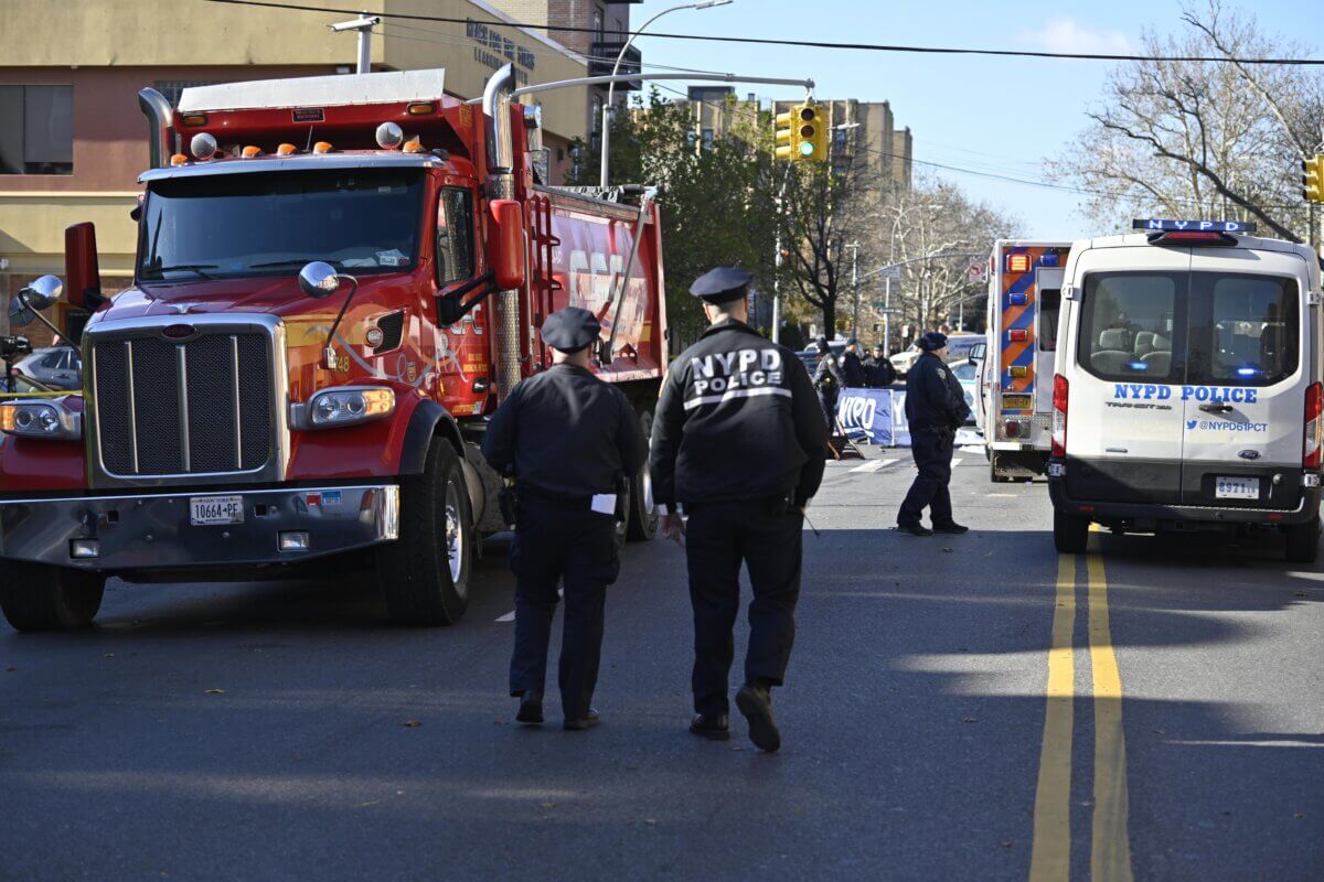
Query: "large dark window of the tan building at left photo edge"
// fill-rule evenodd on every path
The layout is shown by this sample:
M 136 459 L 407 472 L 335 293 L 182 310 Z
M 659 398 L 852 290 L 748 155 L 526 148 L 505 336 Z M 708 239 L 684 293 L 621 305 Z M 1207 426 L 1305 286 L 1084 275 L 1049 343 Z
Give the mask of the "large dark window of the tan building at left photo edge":
M 0 175 L 74 173 L 74 87 L 0 86 Z

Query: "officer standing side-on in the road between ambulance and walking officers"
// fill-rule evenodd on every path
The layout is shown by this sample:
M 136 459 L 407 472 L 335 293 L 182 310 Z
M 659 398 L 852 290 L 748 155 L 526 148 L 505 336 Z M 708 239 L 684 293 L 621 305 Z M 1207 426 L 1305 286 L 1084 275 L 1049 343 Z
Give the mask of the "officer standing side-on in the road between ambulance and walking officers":
M 970 409 L 961 385 L 947 368 L 947 337 L 929 331 L 918 342 L 923 354 L 906 376 L 906 421 L 919 475 L 902 502 L 896 529 L 911 536 L 967 533 L 969 528 L 952 520 L 952 495 L 947 485 L 952 481 L 956 430 L 965 423 Z M 928 508 L 932 530 L 920 522 L 924 508 Z

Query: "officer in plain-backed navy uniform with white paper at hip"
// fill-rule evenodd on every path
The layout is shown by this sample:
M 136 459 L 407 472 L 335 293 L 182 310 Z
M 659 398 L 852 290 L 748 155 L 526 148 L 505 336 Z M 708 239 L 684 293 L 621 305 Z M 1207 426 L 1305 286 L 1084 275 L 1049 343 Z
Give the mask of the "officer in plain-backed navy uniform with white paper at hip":
M 606 497 L 646 456 L 625 393 L 589 370 L 591 345 L 600 331 L 587 309 L 571 307 L 549 315 L 542 335 L 555 364 L 515 386 L 493 414 L 483 439 L 483 456 L 499 473 L 514 475 L 519 500 L 510 554 L 515 573 L 510 694 L 520 698 L 516 719 L 543 722 L 547 643 L 557 583 L 564 583 L 557 682 L 568 730 L 598 723 L 591 701 L 606 586 L 620 573 L 614 505 Z

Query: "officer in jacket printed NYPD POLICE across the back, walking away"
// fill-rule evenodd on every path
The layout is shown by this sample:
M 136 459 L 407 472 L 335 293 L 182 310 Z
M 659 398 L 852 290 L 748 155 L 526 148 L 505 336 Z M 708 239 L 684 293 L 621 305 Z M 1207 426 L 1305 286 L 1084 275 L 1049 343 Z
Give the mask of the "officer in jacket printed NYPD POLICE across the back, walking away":
M 662 530 L 686 545 L 698 713 L 690 731 L 731 737 L 727 678 L 744 563 L 753 600 L 736 707 L 749 722 L 749 739 L 776 751 L 781 735 L 771 690 L 782 685 L 796 636 L 801 521 L 822 481 L 828 426 L 804 364 L 745 324 L 748 284 L 744 270 L 718 268 L 690 287 L 712 327 L 671 362 L 653 424 L 650 473 Z M 830 360 L 826 341 L 820 348 Z

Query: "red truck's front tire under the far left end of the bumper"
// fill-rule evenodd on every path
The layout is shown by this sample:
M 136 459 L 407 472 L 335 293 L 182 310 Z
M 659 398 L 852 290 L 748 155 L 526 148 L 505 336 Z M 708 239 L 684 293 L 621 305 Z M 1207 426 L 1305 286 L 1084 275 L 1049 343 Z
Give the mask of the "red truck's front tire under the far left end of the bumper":
M 0 610 L 16 631 L 86 628 L 105 591 L 101 573 L 0 561 Z

